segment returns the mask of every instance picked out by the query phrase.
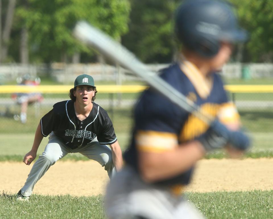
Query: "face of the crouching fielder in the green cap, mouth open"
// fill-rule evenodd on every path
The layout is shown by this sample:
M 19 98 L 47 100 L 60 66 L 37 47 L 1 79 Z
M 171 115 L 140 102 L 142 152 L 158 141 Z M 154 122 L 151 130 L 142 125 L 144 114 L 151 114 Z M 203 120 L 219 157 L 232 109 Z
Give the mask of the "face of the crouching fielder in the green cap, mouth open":
M 76 101 L 80 105 L 88 105 L 92 102 L 92 97 L 95 95 L 95 90 L 92 86 L 88 85 L 79 85 L 76 87 L 76 91 L 74 91 L 74 96 L 76 97 Z

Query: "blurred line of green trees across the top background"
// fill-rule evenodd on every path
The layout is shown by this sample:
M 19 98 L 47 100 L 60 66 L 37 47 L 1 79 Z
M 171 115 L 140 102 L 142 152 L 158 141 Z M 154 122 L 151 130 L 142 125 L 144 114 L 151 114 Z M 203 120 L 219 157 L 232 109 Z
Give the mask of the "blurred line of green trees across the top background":
M 271 62 L 273 1 L 230 2 L 249 41 L 235 47 L 232 61 Z M 180 0 L 1 0 L 0 62 L 104 61 L 71 34 L 86 20 L 120 41 L 146 63 L 168 63 L 177 50 L 173 15 Z

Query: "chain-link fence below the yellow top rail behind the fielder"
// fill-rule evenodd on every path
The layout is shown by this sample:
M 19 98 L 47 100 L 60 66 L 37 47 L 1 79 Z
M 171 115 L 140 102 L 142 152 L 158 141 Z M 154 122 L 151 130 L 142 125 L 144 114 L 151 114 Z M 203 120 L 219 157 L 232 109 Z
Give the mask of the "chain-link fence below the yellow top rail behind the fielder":
M 106 109 L 117 135 L 129 139 L 133 126 L 132 110 L 140 93 L 98 93 L 95 100 Z M 21 105 L 11 94 L 0 94 L 0 133 L 35 133 L 40 118 L 52 109 L 53 104 L 69 100 L 67 94 L 43 94 L 43 100 L 30 104 L 26 123 L 21 123 Z M 273 148 L 273 95 L 272 93 L 231 93 L 241 115 L 243 126 L 253 138 L 254 148 Z

